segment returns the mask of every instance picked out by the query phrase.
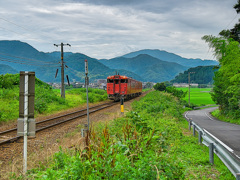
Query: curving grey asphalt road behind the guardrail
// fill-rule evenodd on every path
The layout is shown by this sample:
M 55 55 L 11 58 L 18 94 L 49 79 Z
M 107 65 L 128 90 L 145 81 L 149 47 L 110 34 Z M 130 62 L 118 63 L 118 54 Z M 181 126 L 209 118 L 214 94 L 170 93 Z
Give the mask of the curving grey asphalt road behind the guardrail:
M 215 109 L 216 107 L 188 111 L 185 116 L 230 147 L 240 159 L 240 125 L 222 122 L 212 117 L 209 112 Z

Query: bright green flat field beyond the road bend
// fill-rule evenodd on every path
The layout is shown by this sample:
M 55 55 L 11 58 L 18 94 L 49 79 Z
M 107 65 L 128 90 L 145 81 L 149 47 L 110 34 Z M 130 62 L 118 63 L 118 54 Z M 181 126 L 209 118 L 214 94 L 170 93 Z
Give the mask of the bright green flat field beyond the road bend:
M 188 91 L 188 88 L 178 88 L 183 91 Z M 190 102 L 198 106 L 215 104 L 210 95 L 211 88 L 191 88 Z M 188 94 L 184 98 L 188 102 Z

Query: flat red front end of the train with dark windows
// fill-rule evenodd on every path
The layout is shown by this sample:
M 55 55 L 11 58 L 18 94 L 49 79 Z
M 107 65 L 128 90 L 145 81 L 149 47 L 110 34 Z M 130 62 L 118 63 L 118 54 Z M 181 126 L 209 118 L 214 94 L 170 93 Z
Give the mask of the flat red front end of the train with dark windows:
M 109 99 L 118 101 L 121 95 L 127 94 L 127 77 L 114 75 L 107 78 L 107 94 Z

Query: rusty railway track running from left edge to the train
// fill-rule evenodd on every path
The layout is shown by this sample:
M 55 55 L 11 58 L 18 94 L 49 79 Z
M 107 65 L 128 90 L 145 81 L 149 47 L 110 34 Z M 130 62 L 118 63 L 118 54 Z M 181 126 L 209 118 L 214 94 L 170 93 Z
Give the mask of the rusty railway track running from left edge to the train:
M 108 108 L 110 106 L 115 105 L 116 102 L 110 102 L 105 104 L 100 104 L 96 106 L 89 107 L 89 113 L 94 113 L 96 111 Z M 65 115 L 56 116 L 54 118 L 49 118 L 43 121 L 36 122 L 36 133 L 43 131 L 45 129 L 49 129 L 51 127 L 72 121 L 74 119 L 83 117 L 87 115 L 87 109 L 81 109 L 75 112 L 71 112 Z M 17 128 L 9 129 L 6 131 L 0 132 L 0 146 L 6 143 L 12 143 L 22 138 L 22 136 L 17 135 Z

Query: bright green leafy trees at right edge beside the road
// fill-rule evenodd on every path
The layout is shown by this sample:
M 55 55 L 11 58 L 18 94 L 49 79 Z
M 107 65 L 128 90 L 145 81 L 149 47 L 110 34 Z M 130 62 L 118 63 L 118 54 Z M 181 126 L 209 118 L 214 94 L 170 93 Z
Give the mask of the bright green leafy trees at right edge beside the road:
M 239 42 L 225 37 L 202 38 L 214 49 L 220 68 L 215 72 L 213 100 L 222 114 L 240 117 L 240 49 Z

